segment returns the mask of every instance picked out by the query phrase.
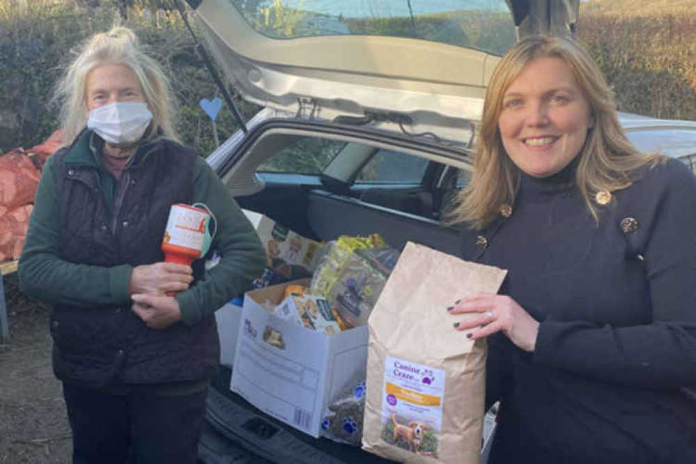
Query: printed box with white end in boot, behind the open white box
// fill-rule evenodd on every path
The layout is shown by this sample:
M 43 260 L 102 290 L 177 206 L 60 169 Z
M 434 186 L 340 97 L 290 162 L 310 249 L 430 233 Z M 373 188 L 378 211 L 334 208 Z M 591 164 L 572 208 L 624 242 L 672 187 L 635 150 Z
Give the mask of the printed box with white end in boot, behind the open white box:
M 252 223 L 268 254 L 268 267 L 288 279 L 310 277 L 325 245 L 302 237 L 258 212 L 242 210 Z

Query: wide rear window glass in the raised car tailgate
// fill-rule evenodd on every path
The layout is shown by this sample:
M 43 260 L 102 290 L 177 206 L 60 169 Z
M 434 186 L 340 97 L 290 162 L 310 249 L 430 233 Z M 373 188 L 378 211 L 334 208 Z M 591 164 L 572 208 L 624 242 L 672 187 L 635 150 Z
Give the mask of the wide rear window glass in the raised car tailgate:
M 417 38 L 503 54 L 515 43 L 505 0 L 229 0 L 258 33 Z

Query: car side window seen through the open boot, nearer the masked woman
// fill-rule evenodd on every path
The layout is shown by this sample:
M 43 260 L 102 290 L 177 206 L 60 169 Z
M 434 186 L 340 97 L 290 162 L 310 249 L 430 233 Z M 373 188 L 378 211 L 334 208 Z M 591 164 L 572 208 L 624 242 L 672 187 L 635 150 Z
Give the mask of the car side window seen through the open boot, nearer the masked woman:
M 258 171 L 320 174 L 344 146 L 344 141 L 300 137 L 261 164 Z

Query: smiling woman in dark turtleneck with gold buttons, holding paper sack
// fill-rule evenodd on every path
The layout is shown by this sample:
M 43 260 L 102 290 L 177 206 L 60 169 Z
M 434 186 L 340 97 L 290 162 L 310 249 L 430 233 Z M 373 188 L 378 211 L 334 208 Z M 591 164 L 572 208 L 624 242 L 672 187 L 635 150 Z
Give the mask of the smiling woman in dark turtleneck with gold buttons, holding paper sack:
M 490 463 L 696 462 L 696 180 L 638 153 L 596 63 L 527 38 L 490 80 L 463 257 L 509 270 L 449 308 L 489 338 Z

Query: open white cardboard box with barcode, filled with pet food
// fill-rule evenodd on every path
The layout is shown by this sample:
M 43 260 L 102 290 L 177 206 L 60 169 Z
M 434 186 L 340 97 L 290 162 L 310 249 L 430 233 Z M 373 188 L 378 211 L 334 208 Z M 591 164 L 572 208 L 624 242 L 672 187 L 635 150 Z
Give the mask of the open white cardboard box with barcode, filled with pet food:
M 286 285 L 247 292 L 231 389 L 263 412 L 318 438 L 325 407 L 366 371 L 367 327 L 325 335 L 272 314 Z M 267 306 L 266 309 L 263 305 Z

